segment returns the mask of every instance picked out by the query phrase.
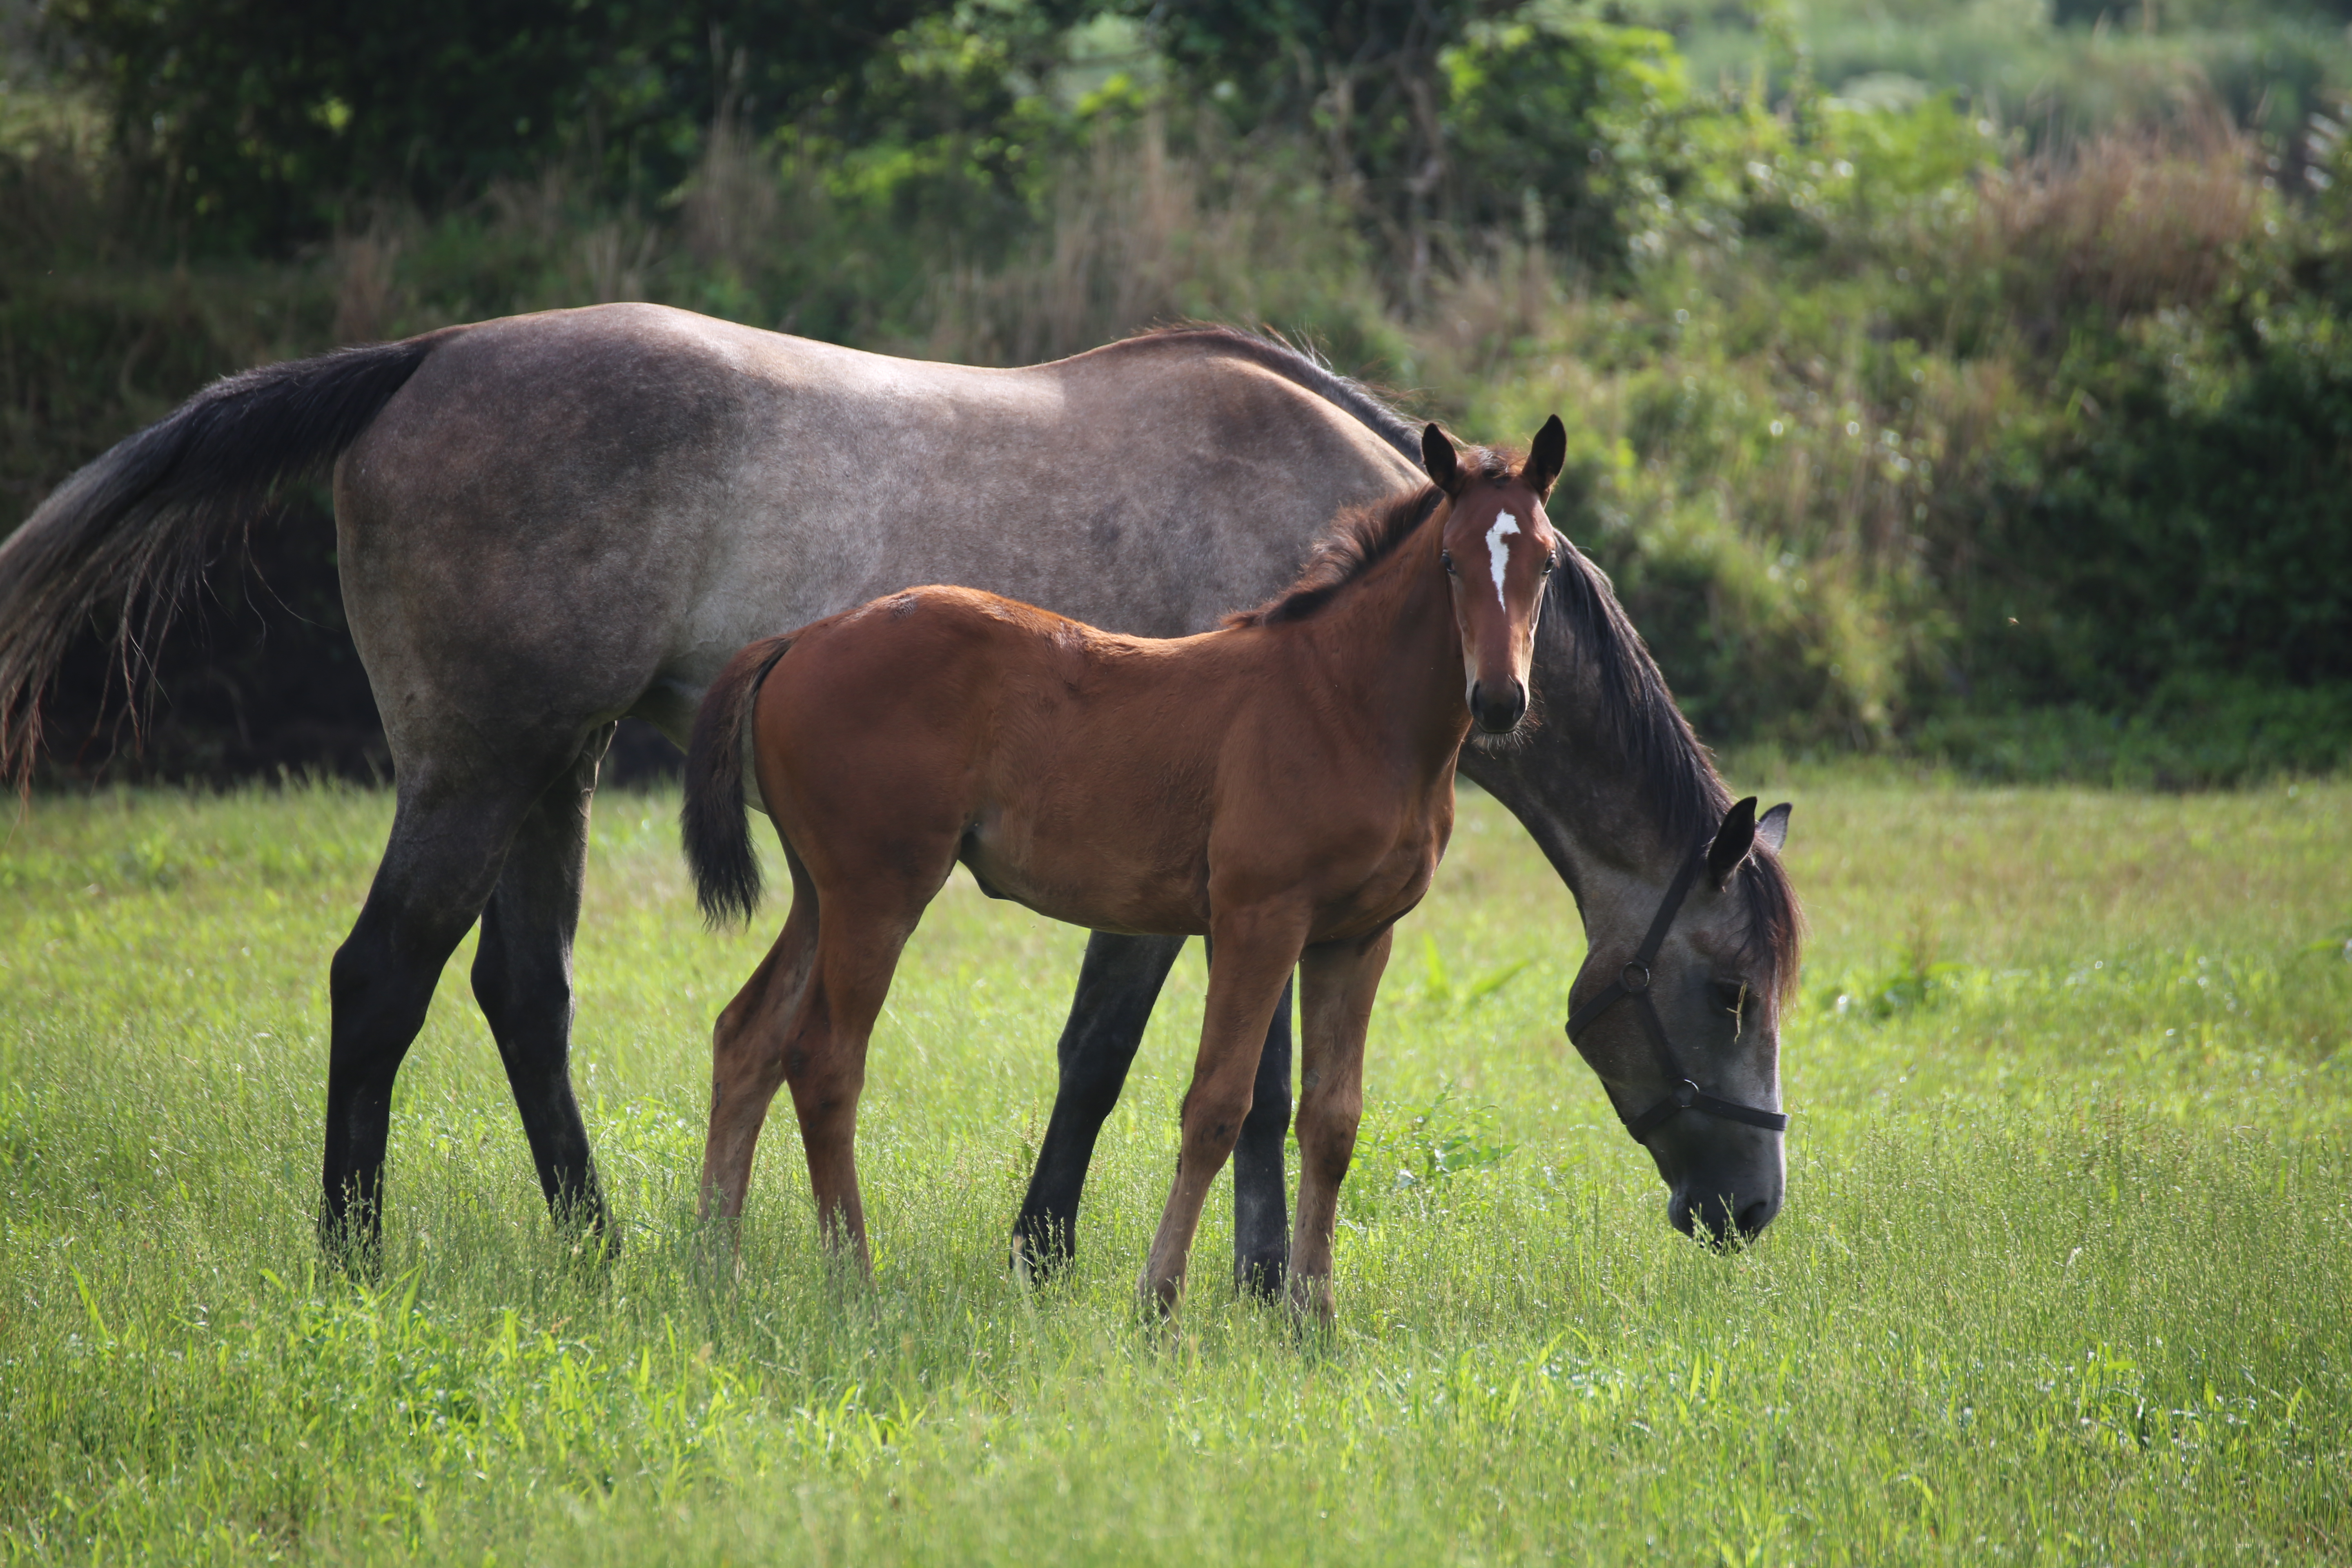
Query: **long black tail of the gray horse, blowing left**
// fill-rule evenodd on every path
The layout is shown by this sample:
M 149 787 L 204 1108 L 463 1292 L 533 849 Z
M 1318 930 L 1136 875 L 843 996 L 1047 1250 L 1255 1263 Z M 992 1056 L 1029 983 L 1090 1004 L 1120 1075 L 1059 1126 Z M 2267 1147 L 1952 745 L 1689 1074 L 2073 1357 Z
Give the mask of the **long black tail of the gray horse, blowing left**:
M 360 440 L 447 331 L 226 376 L 59 484 L 0 543 L 0 776 L 31 776 L 42 691 L 92 616 L 118 614 L 136 703 L 136 665 L 214 552 Z

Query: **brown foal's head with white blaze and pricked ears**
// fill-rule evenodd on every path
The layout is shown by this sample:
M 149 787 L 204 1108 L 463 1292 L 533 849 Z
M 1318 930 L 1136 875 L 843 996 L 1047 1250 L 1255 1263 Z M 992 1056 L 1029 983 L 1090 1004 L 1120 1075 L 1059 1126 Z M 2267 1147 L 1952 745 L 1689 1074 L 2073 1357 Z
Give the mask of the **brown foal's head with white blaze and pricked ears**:
M 1437 425 L 1421 433 L 1421 458 L 1446 494 L 1439 562 L 1454 590 L 1463 635 L 1463 682 L 1470 719 L 1489 736 L 1526 717 L 1526 665 L 1536 656 L 1543 583 L 1559 564 L 1559 536 L 1543 515 L 1569 433 L 1555 414 L 1517 473 L 1496 454 L 1465 465 Z

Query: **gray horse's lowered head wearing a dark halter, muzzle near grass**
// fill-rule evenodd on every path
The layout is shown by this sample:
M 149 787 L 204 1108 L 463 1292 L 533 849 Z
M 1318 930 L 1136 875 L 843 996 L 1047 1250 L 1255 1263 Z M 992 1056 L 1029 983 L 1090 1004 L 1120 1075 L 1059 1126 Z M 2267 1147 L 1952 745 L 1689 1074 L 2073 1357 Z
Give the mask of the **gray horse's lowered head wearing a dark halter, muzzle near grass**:
M 1592 952 L 1569 1037 L 1665 1178 L 1675 1229 L 1752 1239 L 1780 1213 L 1780 1001 L 1795 900 L 1780 879 L 1788 806 L 1755 797 L 1689 851 L 1665 896 L 1628 884 L 1590 907 Z M 1618 933 L 1609 938 L 1604 933 Z

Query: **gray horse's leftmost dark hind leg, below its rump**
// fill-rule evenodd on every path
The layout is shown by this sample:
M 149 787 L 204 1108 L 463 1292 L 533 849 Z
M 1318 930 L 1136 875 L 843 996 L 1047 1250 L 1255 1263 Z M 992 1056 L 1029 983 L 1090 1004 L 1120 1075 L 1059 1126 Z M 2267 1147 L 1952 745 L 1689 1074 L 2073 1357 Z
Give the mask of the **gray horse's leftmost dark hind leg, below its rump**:
M 534 795 L 536 785 L 508 788 L 496 778 L 470 788 L 430 776 L 402 783 L 383 863 L 327 971 L 334 1023 L 320 1241 L 329 1248 L 376 1241 L 393 1079 L 423 1027 L 442 964 L 499 882 Z

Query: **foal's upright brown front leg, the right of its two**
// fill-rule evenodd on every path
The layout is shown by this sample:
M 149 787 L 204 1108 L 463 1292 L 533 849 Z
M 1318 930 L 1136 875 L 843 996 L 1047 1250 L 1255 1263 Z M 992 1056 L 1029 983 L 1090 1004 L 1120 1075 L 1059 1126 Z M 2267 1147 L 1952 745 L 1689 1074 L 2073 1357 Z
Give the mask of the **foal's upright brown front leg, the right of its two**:
M 1364 1117 L 1364 1030 L 1388 969 L 1390 926 L 1359 943 L 1322 943 L 1298 957 L 1298 1227 L 1291 1234 L 1291 1307 L 1331 1321 L 1331 1232 L 1338 1185 Z

